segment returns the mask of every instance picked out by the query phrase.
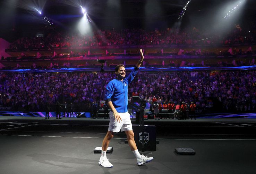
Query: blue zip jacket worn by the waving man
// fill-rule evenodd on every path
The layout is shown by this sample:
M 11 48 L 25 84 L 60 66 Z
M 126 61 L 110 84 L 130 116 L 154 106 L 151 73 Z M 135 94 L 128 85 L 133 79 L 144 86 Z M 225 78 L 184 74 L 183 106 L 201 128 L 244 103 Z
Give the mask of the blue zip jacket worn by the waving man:
M 128 85 L 134 79 L 138 70 L 138 67 L 134 67 L 130 74 L 123 79 L 123 81 L 115 78 L 106 86 L 104 100 L 106 103 L 112 101 L 112 104 L 118 113 L 126 113 L 128 111 Z

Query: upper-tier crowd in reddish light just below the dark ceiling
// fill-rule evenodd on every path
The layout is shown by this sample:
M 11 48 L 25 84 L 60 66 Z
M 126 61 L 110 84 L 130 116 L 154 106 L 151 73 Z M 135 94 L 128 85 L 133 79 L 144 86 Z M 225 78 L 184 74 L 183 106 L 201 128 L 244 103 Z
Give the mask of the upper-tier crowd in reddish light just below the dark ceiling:
M 197 28 L 179 31 L 166 30 L 146 31 L 143 29 L 97 30 L 87 35 L 79 33 L 49 33 L 44 37 L 23 37 L 11 43 L 9 49 L 33 49 L 52 47 L 83 47 L 109 45 L 233 45 L 253 43 L 256 41 L 255 30 L 242 30 L 240 26 L 228 34 L 200 32 Z M 206 39 L 207 38 L 207 39 Z

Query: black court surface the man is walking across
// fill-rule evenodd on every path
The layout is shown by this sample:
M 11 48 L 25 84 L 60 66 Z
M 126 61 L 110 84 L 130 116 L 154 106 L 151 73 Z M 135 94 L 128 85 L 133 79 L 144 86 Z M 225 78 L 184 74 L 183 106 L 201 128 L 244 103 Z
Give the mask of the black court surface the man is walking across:
M 108 120 L 0 117 L 1 174 L 253 174 L 256 164 L 256 119 L 146 120 L 156 126 L 154 160 L 143 166 L 125 133 L 110 142 L 112 168 L 98 164 Z M 178 155 L 176 147 L 195 155 Z

